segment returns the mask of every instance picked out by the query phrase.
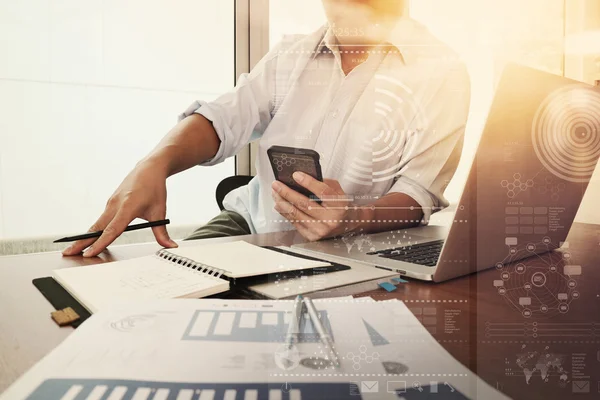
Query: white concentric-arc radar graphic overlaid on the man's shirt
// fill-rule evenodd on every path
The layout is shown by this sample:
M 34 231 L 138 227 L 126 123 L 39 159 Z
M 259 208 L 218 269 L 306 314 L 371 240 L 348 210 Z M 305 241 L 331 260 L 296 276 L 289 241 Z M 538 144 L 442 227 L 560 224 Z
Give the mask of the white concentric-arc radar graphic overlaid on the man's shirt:
M 374 82 L 373 112 L 381 119 L 382 129 L 365 137 L 360 155 L 347 171 L 348 180 L 364 186 L 396 178 L 405 162 L 401 155 L 414 150 L 406 148 L 409 137 L 422 134 L 429 126 L 408 85 L 384 74 L 376 74 Z

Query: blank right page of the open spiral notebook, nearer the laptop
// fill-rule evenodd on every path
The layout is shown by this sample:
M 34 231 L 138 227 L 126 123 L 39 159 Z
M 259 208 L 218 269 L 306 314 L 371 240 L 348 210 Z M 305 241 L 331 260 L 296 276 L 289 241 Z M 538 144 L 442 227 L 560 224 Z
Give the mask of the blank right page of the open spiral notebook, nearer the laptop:
M 227 272 L 230 278 L 244 278 L 282 271 L 297 271 L 330 265 L 327 262 L 306 260 L 238 240 L 169 249 L 169 253 L 187 257 L 197 263 Z

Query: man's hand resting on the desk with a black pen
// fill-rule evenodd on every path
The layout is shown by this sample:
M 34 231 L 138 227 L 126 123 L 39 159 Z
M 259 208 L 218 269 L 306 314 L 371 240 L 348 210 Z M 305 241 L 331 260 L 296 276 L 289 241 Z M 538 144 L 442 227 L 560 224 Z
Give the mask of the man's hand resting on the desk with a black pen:
M 78 240 L 63 251 L 63 255 L 80 254 L 94 257 L 110 245 L 135 218 L 146 221 L 165 219 L 167 213 L 167 173 L 158 163 L 140 162 L 127 175 L 106 204 L 106 209 L 89 232 L 104 231 L 94 239 Z M 156 241 L 164 247 L 177 247 L 165 226 L 152 228 Z

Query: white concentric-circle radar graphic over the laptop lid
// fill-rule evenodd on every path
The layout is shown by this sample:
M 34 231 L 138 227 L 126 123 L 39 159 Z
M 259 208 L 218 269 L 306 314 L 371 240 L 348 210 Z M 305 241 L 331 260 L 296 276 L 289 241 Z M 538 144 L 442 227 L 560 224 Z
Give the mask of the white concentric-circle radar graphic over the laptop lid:
M 589 182 L 600 156 L 600 92 L 571 85 L 551 93 L 533 119 L 542 165 L 569 182 Z

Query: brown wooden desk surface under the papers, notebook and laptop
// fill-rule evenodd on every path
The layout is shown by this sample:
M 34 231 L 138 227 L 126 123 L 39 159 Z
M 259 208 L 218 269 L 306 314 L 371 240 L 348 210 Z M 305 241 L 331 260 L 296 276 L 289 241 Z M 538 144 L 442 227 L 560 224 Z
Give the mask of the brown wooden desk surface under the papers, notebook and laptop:
M 295 232 L 251 235 L 243 239 L 257 245 L 290 245 L 303 241 Z M 574 395 L 574 390 L 585 391 L 587 386 L 589 392 L 577 393 L 577 398 L 597 398 L 600 393 L 600 226 L 575 224 L 568 242 L 570 263 L 581 265 L 582 272 L 573 276 L 577 286 L 571 292 L 576 290 L 579 295 L 572 299 L 571 293 L 565 312 L 550 309 L 531 317 L 522 315 L 519 295 L 500 295 L 494 286 L 494 281 L 502 280 L 502 271 L 497 269 L 441 284 L 410 280 L 392 293 L 374 288 L 363 295 L 377 300 L 405 301 L 454 357 L 511 397 L 565 399 Z M 182 243 L 183 246 L 194 244 Z M 32 285 L 32 279 L 49 276 L 56 268 L 139 257 L 158 248 L 151 243 L 116 246 L 95 259 L 63 258 L 59 253 L 0 257 L 0 392 L 72 332 L 71 328 L 59 328 L 51 321 L 53 308 Z M 553 275 L 550 267 L 555 265 L 559 273 L 562 272 L 562 259 L 560 252 L 528 259 L 527 271 L 513 274 L 516 278 L 511 276 L 505 288 L 509 293 L 519 294 L 522 292 L 519 287 L 525 283 L 541 283 L 533 280 L 533 271 L 544 272 L 548 297 L 537 294 L 550 306 L 557 305 L 558 302 L 550 304 L 551 299 L 562 293 L 568 279 L 560 276 L 564 281 L 559 280 L 562 274 Z M 571 273 L 577 273 L 577 268 Z M 526 292 L 521 293 L 524 294 Z M 531 301 L 530 307 L 539 309 L 539 300 L 532 296 Z M 534 368 L 537 369 L 529 376 Z M 548 370 L 547 383 L 543 382 L 540 369 Z M 564 372 L 566 382 L 561 381 Z M 574 385 L 582 389 L 575 389 Z

